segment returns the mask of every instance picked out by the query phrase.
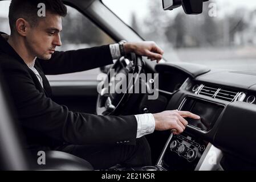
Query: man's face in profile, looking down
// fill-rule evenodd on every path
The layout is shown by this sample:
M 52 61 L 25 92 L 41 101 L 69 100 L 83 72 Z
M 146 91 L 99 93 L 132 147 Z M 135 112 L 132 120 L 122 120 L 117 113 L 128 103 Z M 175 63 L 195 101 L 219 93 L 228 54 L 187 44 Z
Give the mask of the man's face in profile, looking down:
M 26 35 L 26 46 L 36 57 L 48 60 L 56 46 L 61 46 L 62 16 L 46 13 L 34 27 L 29 27 Z

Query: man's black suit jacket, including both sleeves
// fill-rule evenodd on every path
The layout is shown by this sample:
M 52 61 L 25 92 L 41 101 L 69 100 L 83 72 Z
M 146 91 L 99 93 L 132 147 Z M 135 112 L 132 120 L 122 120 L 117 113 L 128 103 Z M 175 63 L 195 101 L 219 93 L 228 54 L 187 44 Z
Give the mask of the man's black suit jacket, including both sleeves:
M 59 144 L 134 144 L 134 115 L 100 116 L 75 113 L 51 100 L 46 75 L 86 71 L 112 64 L 109 46 L 55 52 L 50 60 L 36 59 L 43 86 L 17 52 L 0 36 L 0 68 L 14 101 L 29 146 L 54 148 Z M 86 103 L 84 103 L 86 104 Z

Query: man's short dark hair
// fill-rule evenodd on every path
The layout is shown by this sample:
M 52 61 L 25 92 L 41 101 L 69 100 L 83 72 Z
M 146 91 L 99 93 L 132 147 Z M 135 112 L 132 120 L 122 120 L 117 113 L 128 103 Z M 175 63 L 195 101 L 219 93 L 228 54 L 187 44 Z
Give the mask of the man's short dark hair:
M 60 16 L 67 15 L 67 7 L 61 0 L 12 0 L 9 8 L 9 23 L 11 32 L 15 30 L 16 20 L 24 18 L 31 26 L 36 26 L 39 19 L 38 4 L 44 3 L 46 12 Z

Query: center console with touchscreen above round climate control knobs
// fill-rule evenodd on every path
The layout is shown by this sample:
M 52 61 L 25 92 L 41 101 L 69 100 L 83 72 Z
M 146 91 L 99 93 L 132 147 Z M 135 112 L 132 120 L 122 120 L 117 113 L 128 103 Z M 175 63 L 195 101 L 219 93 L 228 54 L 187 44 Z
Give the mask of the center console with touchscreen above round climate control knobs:
M 117 168 L 116 170 L 193 171 L 199 169 L 203 165 L 200 165 L 200 163 L 203 163 L 202 161 L 206 159 L 206 156 L 209 156 L 208 153 L 214 150 L 214 146 L 206 140 L 201 139 L 201 137 L 198 137 L 198 133 L 200 135 L 208 134 L 213 129 L 224 109 L 224 104 L 194 96 L 186 96 L 182 100 L 178 110 L 190 111 L 200 115 L 201 118 L 186 118 L 189 130 L 186 129 L 180 135 L 170 134 L 156 166 Z M 216 150 L 214 154 L 218 152 Z

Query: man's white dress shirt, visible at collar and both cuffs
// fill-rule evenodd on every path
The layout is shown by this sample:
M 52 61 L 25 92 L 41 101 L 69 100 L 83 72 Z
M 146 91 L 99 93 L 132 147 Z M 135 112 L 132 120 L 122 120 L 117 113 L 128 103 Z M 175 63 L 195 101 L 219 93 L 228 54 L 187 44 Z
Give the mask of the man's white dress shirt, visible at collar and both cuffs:
M 119 44 L 110 44 L 109 45 L 112 59 L 116 60 L 121 56 Z M 28 67 L 35 73 L 40 84 L 43 87 L 43 79 L 39 75 L 38 71 L 34 68 L 34 65 L 28 65 Z M 136 138 L 143 137 L 144 135 L 151 134 L 155 130 L 155 118 L 153 114 L 137 114 L 135 115 L 137 120 L 137 135 Z

